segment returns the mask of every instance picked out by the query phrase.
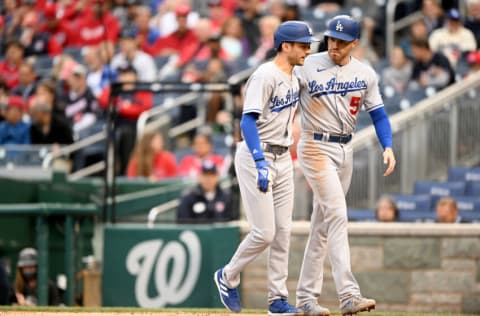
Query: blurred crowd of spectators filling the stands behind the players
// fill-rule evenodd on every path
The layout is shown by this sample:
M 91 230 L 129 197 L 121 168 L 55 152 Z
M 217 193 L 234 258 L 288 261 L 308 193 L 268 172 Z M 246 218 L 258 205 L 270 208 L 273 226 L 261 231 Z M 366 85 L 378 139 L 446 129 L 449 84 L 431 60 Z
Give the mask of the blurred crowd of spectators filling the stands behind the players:
M 4 0 L 0 145 L 51 144 L 53 151 L 58 150 L 102 130 L 113 104 L 118 175 L 152 180 L 198 176 L 206 158 L 225 174 L 228 161 L 225 165 L 222 161 L 228 159 L 225 148 L 218 148 L 222 142 L 216 135 L 231 133 L 232 128 L 235 132 L 241 93 L 234 96 L 233 111 L 226 108 L 222 93 L 208 93 L 197 104 L 174 112 L 172 125 L 195 118 L 198 106 L 206 107 L 206 127 L 211 131 L 187 135 L 182 144 L 188 150 L 178 154 L 174 146 L 178 144 L 161 133 L 136 135 L 141 113 L 177 95 L 126 91 L 112 100 L 111 84 L 225 82 L 271 58 L 276 27 L 292 19 L 309 22 L 320 38 L 334 15 L 361 20 L 355 56 L 377 70 L 390 114 L 480 69 L 480 0 L 400 3 L 395 20 L 421 14 L 396 33 L 392 50 L 385 45 L 387 2 Z M 316 51 L 323 49 L 324 43 L 315 45 Z M 360 128 L 363 123 L 369 122 L 359 118 Z M 234 140 L 239 137 L 234 133 Z M 69 157 L 71 169 L 92 164 L 102 155 L 102 146 L 81 151 Z

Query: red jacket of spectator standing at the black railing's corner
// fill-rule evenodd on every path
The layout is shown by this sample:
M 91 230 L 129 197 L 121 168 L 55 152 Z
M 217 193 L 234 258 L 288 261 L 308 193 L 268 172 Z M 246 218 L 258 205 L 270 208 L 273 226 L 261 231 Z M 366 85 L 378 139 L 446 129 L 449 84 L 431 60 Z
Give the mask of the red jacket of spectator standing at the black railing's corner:
M 110 98 L 110 87 L 107 87 L 98 97 L 100 107 L 106 109 Z M 140 114 L 152 108 L 153 96 L 151 92 L 138 91 L 129 97 L 118 96 L 115 104 L 117 106 L 118 115 L 136 121 Z

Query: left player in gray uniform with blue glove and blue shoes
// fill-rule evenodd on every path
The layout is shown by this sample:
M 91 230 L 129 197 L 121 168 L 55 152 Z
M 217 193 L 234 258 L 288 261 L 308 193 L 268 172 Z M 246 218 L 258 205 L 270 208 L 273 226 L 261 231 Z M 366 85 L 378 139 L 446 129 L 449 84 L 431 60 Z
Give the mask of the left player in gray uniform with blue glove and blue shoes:
M 277 54 L 258 67 L 245 87 L 240 123 L 244 141 L 237 146 L 235 170 L 251 230 L 230 262 L 214 274 L 220 299 L 240 312 L 240 272 L 270 246 L 268 303 L 270 315 L 296 315 L 287 302 L 288 252 L 293 208 L 293 166 L 288 151 L 299 100 L 295 65 L 303 65 L 315 39 L 305 22 L 282 23 L 274 34 Z

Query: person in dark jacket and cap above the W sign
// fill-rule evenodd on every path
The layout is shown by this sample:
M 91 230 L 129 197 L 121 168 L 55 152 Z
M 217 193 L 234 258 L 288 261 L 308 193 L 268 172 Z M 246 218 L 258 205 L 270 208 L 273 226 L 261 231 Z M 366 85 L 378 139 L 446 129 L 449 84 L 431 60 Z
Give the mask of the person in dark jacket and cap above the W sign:
M 215 164 L 205 160 L 198 176 L 198 184 L 185 192 L 177 209 L 179 223 L 224 222 L 238 218 L 233 214 L 230 194 L 220 188 Z

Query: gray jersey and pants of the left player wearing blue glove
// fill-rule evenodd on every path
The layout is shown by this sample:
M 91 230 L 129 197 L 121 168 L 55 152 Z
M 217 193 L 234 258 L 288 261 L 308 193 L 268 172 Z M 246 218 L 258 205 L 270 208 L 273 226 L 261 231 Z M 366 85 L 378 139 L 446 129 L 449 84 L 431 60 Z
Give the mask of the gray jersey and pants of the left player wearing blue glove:
M 292 121 L 299 100 L 299 83 L 273 62 L 261 65 L 246 85 L 243 113 L 258 113 L 260 141 L 264 144 L 292 144 Z M 270 246 L 268 259 L 268 301 L 288 296 L 288 251 L 293 209 L 293 164 L 288 150 L 273 154 L 264 150 L 269 161 L 271 190 L 257 188 L 257 169 L 245 142 L 235 154 L 242 203 L 251 230 L 223 269 L 227 285 L 235 288 L 240 272 Z

